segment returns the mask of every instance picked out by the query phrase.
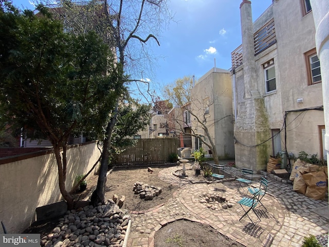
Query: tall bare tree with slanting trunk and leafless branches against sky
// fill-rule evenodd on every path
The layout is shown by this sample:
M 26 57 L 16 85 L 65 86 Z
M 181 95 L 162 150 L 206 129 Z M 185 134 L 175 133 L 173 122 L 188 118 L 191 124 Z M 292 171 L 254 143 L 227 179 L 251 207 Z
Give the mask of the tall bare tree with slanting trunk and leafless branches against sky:
M 99 2 L 93 0 L 86 3 L 73 3 L 62 1 L 56 8 L 59 17 L 66 21 L 64 27 L 68 31 L 84 32 L 93 29 L 101 35 L 103 40 L 109 42 L 117 54 L 118 66 L 122 76 L 120 84 L 128 86 L 123 73 L 129 74 L 136 83 L 147 83 L 143 78 L 143 71 L 152 67 L 151 45 L 160 45 L 158 37 L 166 24 L 172 20 L 167 0 L 117 0 L 108 2 L 104 0 L 102 8 Z M 88 10 L 88 11 L 87 11 Z M 136 79 L 138 78 L 138 79 Z M 132 84 L 130 84 L 132 86 Z M 138 85 L 137 85 L 138 89 Z M 148 92 L 147 92 L 148 93 Z M 94 205 L 104 202 L 106 172 L 111 148 L 113 128 L 117 122 L 120 97 L 109 113 L 111 116 L 104 126 L 103 152 L 97 188 L 93 193 Z

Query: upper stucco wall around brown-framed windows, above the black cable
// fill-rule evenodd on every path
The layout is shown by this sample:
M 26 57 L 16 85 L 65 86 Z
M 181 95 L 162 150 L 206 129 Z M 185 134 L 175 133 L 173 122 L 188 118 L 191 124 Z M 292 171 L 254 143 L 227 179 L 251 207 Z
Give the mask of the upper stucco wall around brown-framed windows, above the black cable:
M 296 7 L 291 5 L 295 2 Z M 302 16 L 299 1 L 278 1 L 273 5 L 280 66 L 280 86 L 284 110 L 323 104 L 322 85 L 307 84 L 305 52 L 315 48 L 313 12 Z M 302 104 L 297 103 L 303 98 Z

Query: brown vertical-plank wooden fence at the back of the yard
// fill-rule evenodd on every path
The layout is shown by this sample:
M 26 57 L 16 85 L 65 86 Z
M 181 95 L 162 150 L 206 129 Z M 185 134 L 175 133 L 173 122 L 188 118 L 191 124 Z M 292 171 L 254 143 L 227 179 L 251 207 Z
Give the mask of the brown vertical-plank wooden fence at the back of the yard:
M 139 139 L 132 146 L 112 158 L 112 166 L 135 166 L 164 164 L 170 162 L 169 155 L 177 154 L 177 138 Z

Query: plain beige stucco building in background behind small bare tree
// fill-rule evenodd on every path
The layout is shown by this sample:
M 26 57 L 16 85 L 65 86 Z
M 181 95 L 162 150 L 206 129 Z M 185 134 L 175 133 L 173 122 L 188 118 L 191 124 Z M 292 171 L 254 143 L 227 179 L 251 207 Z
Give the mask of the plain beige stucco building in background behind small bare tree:
M 190 108 L 205 125 L 216 145 L 219 158 L 234 158 L 232 85 L 229 70 L 212 68 L 191 90 Z M 192 130 L 206 136 L 200 122 L 191 116 Z

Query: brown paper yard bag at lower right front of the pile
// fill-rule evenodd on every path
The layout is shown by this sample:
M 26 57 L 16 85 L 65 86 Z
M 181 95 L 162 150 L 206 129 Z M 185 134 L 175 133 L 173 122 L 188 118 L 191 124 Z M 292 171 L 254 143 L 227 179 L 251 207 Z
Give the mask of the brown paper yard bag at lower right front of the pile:
M 303 179 L 307 185 L 305 196 L 315 200 L 325 197 L 327 182 L 326 175 L 323 171 L 303 174 Z

